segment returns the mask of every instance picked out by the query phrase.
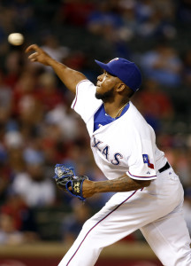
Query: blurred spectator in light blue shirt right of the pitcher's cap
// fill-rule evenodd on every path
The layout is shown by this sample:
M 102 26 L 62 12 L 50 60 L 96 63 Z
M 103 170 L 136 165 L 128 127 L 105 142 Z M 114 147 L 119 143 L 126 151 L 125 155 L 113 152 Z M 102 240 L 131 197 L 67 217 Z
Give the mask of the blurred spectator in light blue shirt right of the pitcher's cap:
M 182 62 L 178 52 L 167 44 L 157 44 L 154 50 L 141 56 L 141 67 L 146 78 L 164 86 L 178 87 Z

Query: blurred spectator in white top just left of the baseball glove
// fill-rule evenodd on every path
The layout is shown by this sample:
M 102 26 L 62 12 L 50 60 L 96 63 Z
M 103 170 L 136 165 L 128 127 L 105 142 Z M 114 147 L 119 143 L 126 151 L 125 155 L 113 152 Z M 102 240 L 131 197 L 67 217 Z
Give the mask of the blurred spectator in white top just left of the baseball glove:
M 24 160 L 27 172 L 14 176 L 12 190 L 27 202 L 29 207 L 50 206 L 55 202 L 55 185 L 45 175 L 44 158 L 42 153 L 26 149 Z

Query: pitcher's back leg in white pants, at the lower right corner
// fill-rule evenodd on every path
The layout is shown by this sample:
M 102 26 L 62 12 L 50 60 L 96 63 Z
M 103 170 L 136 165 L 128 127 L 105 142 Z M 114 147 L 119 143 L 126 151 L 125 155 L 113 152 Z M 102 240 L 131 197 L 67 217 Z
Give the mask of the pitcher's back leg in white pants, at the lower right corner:
M 190 237 L 181 212 L 149 223 L 141 232 L 165 266 L 191 265 Z

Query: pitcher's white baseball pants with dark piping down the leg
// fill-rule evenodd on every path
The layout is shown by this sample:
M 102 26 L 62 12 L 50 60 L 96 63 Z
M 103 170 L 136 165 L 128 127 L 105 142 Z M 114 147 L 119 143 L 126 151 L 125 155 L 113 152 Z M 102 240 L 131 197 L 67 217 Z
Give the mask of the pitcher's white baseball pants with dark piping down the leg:
M 190 266 L 190 237 L 182 203 L 182 185 L 172 168 L 158 173 L 148 188 L 116 193 L 84 223 L 58 266 L 93 266 L 104 246 L 137 229 L 165 266 Z

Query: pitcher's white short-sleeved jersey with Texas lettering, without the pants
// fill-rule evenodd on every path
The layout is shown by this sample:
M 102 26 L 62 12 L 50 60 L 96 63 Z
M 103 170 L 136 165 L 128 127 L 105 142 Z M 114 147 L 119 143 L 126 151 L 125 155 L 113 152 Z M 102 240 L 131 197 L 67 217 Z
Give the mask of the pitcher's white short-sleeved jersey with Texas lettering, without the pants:
M 103 174 L 108 179 L 124 173 L 133 179 L 156 179 L 156 171 L 166 159 L 157 148 L 154 130 L 130 102 L 126 113 L 94 132 L 94 115 L 102 104 L 95 98 L 92 82 L 78 84 L 72 106 L 87 124 L 95 162 Z

